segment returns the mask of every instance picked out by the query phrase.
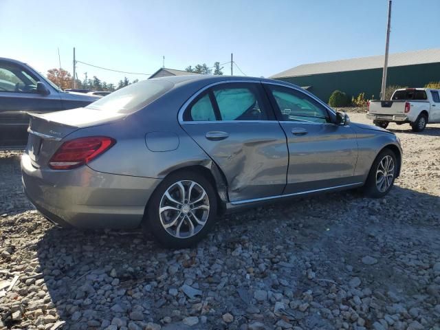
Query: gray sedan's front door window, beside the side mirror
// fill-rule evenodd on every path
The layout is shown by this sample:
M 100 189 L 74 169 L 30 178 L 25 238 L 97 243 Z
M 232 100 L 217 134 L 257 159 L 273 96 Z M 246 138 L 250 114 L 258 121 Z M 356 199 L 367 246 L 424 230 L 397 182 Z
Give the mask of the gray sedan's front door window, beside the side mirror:
M 282 120 L 298 122 L 330 122 L 325 107 L 300 91 L 270 86 Z

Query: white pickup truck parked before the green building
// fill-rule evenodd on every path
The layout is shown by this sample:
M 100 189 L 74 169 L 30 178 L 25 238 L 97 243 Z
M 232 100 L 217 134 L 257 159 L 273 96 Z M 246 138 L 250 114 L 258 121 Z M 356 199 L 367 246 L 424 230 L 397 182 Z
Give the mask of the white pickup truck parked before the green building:
M 391 101 L 371 100 L 366 118 L 386 129 L 390 122 L 408 123 L 421 132 L 426 124 L 440 122 L 440 90 L 429 88 L 396 89 Z

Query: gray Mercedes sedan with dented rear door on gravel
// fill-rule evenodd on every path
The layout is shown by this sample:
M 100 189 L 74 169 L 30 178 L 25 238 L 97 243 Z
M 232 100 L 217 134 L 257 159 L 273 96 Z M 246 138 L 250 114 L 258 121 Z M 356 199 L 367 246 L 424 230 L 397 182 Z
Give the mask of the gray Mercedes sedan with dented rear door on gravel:
M 267 201 L 358 187 L 382 197 L 401 166 L 393 133 L 263 78 L 145 80 L 85 108 L 31 114 L 28 131 L 23 185 L 47 219 L 142 226 L 172 248 Z

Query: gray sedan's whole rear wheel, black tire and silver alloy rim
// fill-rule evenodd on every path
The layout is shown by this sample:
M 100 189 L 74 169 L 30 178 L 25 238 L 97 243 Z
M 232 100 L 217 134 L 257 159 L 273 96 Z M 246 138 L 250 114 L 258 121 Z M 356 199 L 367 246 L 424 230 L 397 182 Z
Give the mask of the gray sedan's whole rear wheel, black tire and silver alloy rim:
M 153 193 L 142 228 L 168 248 L 188 248 L 214 225 L 216 197 L 205 177 L 188 170 L 173 173 Z

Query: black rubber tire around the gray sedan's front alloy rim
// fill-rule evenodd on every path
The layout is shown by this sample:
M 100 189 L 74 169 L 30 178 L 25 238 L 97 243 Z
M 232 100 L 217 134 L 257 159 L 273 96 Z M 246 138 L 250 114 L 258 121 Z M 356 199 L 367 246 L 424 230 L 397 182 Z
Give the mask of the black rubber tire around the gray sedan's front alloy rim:
M 393 178 L 391 181 L 387 181 L 386 184 L 389 184 L 388 187 L 386 189 L 384 189 L 383 191 L 380 190 L 380 188 L 378 188 L 378 184 L 377 184 L 377 177 L 380 178 L 380 174 L 377 175 L 377 170 L 380 167 L 380 162 L 382 162 L 382 159 L 384 159 L 385 157 L 391 157 L 391 159 L 393 159 Z M 393 151 L 391 151 L 388 148 L 385 148 L 384 150 L 382 150 L 379 155 L 377 155 L 377 157 L 374 159 L 373 165 L 371 165 L 370 168 L 370 173 L 369 176 L 367 177 L 363 190 L 364 190 L 364 195 L 366 195 L 366 197 L 372 197 L 372 198 L 380 198 L 380 197 L 384 197 L 386 194 L 388 194 L 388 192 L 391 190 L 391 188 L 393 188 L 393 184 L 395 181 L 395 177 L 397 175 L 397 158 L 396 155 Z M 389 178 L 389 177 L 388 177 Z M 384 188 L 382 186 L 382 188 Z

